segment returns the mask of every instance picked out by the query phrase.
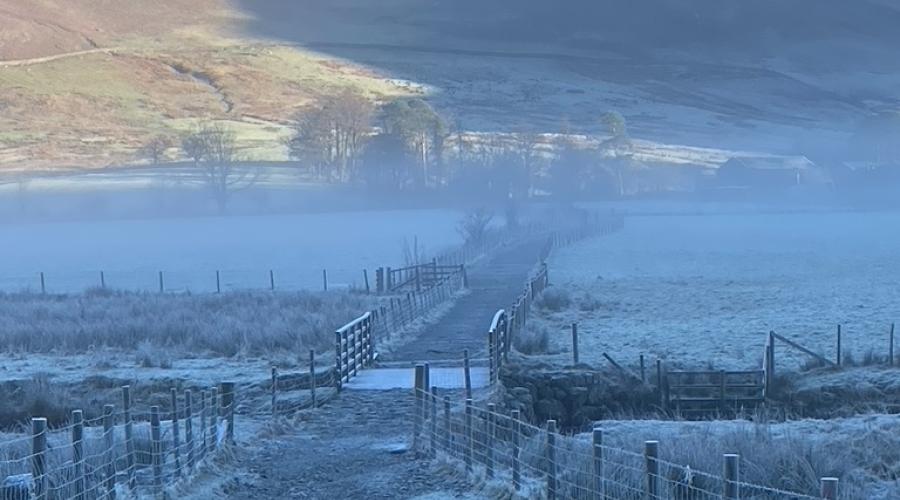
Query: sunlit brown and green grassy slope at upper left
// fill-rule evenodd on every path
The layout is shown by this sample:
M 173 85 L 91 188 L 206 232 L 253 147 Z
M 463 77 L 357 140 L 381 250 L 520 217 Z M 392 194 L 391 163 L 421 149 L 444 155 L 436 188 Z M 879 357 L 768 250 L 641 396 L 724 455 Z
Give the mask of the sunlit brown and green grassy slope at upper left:
M 364 68 L 239 36 L 240 13 L 219 1 L 19 4 L 0 0 L 13 26 L 0 38 L 3 169 L 129 161 L 149 137 L 174 139 L 203 119 L 229 122 L 249 158 L 282 158 L 297 109 L 344 88 L 402 93 Z M 78 54 L 97 47 L 109 50 Z

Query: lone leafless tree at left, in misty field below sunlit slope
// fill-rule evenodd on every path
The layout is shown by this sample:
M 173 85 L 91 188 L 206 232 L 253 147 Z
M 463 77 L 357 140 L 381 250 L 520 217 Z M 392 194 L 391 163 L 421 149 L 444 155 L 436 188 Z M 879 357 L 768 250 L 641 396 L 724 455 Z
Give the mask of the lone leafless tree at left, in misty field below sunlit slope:
M 234 131 L 221 124 L 204 124 L 182 140 L 184 153 L 194 160 L 200 179 L 224 213 L 236 192 L 259 180 L 259 169 L 238 165 L 240 161 Z

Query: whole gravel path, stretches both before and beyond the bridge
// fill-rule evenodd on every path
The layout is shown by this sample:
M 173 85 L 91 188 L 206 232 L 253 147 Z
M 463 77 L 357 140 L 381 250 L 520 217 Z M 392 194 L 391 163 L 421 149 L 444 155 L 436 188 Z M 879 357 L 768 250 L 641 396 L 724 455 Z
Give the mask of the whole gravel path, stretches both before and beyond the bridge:
M 522 292 L 544 240 L 497 252 L 469 272 L 471 293 L 433 328 L 394 350 L 390 361 L 453 359 L 469 349 L 485 355 L 486 332 L 501 307 Z M 452 399 L 462 394 L 448 392 Z M 409 451 L 413 409 L 409 389 L 345 390 L 315 412 L 302 415 L 287 435 L 250 443 L 237 468 L 253 479 L 224 488 L 232 499 L 480 498 L 455 469 Z

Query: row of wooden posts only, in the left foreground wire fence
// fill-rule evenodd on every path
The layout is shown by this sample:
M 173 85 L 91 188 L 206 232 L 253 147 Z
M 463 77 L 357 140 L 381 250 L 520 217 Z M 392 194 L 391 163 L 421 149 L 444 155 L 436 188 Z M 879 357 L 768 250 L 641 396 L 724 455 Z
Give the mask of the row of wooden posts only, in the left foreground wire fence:
M 218 446 L 218 421 L 222 419 L 226 424 L 224 442 L 234 444 L 234 403 L 235 403 L 235 385 L 234 383 L 225 382 L 219 385 L 219 388 L 211 388 L 209 400 L 207 401 L 207 391 L 200 391 L 200 426 L 201 432 L 199 437 L 199 446 L 195 440 L 193 432 L 193 395 L 191 391 L 184 391 L 184 410 L 181 415 L 184 419 L 185 433 L 184 445 L 187 449 L 186 462 L 181 461 L 181 432 L 179 426 L 179 409 L 178 409 L 178 391 L 171 389 L 171 425 L 172 425 L 172 453 L 174 455 L 174 477 L 179 479 L 186 470 L 190 474 L 198 462 L 205 458 L 208 454 L 214 452 Z M 125 442 L 125 484 L 126 487 L 134 492 L 137 489 L 134 468 L 138 461 L 135 456 L 134 445 L 134 420 L 132 413 L 132 397 L 131 387 L 122 387 L 122 404 L 123 404 L 123 424 Z M 209 427 L 206 426 L 207 420 Z M 116 472 L 116 439 L 115 439 L 115 406 L 108 404 L 103 407 L 101 418 L 103 426 L 103 467 L 101 485 L 107 498 L 115 498 L 116 483 L 118 474 Z M 159 406 L 150 407 L 150 450 L 151 450 L 151 467 L 153 475 L 153 489 L 159 494 L 163 487 L 163 432 L 161 429 L 160 408 Z M 85 419 L 82 410 L 74 410 L 72 412 L 71 425 L 71 444 L 72 444 L 72 473 L 74 478 L 71 482 L 74 488 L 73 495 L 70 498 L 83 500 L 87 489 L 87 476 L 85 467 L 85 449 L 84 449 L 84 429 Z M 43 417 L 35 417 L 31 420 L 32 431 L 32 458 L 31 458 L 31 477 L 34 482 L 34 497 L 38 500 L 47 500 L 50 496 L 49 479 L 51 471 L 48 470 L 48 433 L 51 429 L 48 426 L 47 419 Z M 16 496 L 17 497 L 17 496 Z

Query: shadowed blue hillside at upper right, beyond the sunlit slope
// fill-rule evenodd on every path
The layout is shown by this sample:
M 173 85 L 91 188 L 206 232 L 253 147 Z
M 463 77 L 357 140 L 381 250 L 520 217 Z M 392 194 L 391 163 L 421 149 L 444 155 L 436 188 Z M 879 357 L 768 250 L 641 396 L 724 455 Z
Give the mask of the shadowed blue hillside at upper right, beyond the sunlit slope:
M 469 128 L 601 127 L 803 153 L 900 108 L 891 0 L 253 2 L 254 33 L 438 89 Z

